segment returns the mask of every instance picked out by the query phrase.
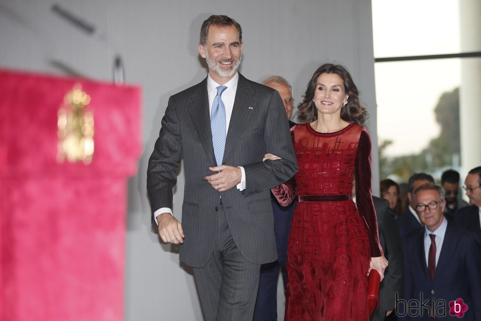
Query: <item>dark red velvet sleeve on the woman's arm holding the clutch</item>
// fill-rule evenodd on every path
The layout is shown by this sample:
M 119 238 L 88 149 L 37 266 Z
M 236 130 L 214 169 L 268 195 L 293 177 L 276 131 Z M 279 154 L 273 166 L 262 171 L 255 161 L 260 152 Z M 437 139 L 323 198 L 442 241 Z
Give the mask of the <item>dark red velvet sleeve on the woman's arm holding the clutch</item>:
M 371 244 L 371 257 L 383 255 L 377 232 L 377 219 L 372 203 L 371 190 L 371 138 L 366 128 L 363 128 L 356 154 L 356 204 L 364 219 Z

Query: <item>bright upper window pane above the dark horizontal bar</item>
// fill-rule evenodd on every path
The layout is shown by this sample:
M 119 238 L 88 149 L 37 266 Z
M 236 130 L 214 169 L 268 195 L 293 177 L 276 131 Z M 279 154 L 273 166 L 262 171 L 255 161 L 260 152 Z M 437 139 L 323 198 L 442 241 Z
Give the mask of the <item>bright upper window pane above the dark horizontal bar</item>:
M 454 54 L 458 0 L 372 0 L 374 57 Z

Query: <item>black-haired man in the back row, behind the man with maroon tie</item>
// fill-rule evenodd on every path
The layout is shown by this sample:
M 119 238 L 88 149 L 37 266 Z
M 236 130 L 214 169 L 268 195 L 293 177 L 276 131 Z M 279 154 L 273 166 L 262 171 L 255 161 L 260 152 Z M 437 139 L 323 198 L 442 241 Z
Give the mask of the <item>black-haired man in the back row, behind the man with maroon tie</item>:
M 447 170 L 441 175 L 441 187 L 446 197 L 444 216 L 448 221 L 454 220 L 454 213 L 462 207 L 468 206 L 459 194 L 459 173 L 454 170 Z

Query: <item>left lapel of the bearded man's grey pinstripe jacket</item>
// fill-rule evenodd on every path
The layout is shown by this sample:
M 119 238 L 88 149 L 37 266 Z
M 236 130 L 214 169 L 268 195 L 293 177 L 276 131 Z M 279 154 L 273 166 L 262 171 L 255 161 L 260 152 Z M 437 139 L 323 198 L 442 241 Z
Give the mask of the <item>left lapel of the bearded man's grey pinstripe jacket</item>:
M 190 97 L 189 113 L 196 128 L 200 144 L 215 166 L 214 146 L 212 145 L 212 132 L 209 117 L 209 96 L 207 94 L 207 78 L 201 82 L 197 90 Z

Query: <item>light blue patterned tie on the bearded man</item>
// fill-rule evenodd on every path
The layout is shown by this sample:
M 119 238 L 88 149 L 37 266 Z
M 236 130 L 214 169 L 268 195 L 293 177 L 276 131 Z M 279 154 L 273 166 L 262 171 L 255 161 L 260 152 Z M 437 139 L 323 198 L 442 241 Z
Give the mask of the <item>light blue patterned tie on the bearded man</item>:
M 212 112 L 210 116 L 210 129 L 212 131 L 212 145 L 214 146 L 214 154 L 216 156 L 217 166 L 222 165 L 224 158 L 224 148 L 226 147 L 226 106 L 222 101 L 222 93 L 226 90 L 226 86 L 217 87 L 217 95 L 212 104 Z

